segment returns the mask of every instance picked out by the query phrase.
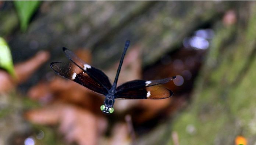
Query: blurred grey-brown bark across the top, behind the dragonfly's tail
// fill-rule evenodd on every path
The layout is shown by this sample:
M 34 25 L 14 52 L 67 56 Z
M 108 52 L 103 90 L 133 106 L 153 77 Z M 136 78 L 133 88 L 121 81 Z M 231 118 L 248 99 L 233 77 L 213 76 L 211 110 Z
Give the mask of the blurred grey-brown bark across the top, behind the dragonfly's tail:
M 50 61 L 56 61 L 65 60 L 61 47 L 88 48 L 93 65 L 101 69 L 118 61 L 127 39 L 131 46 L 142 48 L 143 66 L 150 65 L 236 6 L 225 1 L 44 1 L 27 32 L 21 33 L 13 4 L 5 5 L 0 11 L 0 35 L 8 41 L 14 63 L 38 50 L 50 51 L 54 56 Z M 49 71 L 45 65 L 26 86 Z

